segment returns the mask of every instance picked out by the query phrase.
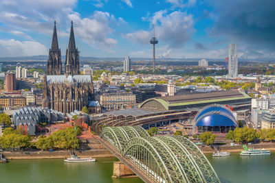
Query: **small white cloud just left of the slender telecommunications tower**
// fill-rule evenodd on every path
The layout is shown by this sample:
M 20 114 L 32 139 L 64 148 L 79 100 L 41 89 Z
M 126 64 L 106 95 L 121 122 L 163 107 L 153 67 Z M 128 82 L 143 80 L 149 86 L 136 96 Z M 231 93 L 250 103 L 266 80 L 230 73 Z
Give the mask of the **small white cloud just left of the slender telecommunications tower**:
M 140 30 L 137 32 L 128 33 L 124 35 L 124 37 L 133 42 L 139 42 L 143 45 L 148 45 L 150 40 L 150 32 Z

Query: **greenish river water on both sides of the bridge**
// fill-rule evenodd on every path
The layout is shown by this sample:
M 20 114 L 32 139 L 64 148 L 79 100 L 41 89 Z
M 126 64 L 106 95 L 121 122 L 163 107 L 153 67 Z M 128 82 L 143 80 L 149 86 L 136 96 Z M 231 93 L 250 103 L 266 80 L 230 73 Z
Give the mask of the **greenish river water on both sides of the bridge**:
M 232 154 L 230 157 L 206 155 L 221 182 L 275 182 L 275 154 L 271 156 L 243 157 Z M 97 158 L 97 162 L 65 163 L 61 159 L 51 160 L 10 160 L 0 163 L 0 182 L 114 182 L 137 183 L 139 178 L 111 178 L 113 161 L 116 158 Z

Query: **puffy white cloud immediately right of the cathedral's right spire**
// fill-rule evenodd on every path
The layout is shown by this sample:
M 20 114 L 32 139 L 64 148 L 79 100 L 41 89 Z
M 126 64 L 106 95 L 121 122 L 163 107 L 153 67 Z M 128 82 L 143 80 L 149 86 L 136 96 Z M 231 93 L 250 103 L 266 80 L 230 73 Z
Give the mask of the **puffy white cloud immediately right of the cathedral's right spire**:
M 69 19 L 75 23 L 75 34 L 91 46 L 112 47 L 118 42 L 109 38 L 109 34 L 114 32 L 109 27 L 110 20 L 115 19 L 115 17 L 108 12 L 95 11 L 91 18 L 84 19 L 80 18 L 80 14 L 74 12 L 74 14 L 69 14 Z

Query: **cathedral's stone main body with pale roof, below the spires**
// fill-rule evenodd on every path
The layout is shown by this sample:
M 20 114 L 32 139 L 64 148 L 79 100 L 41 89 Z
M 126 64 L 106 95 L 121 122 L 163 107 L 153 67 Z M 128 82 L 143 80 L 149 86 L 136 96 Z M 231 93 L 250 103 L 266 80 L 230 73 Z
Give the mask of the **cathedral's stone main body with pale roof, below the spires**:
M 46 79 L 47 78 L 47 79 Z M 43 106 L 64 113 L 82 110 L 94 99 L 91 75 L 47 75 Z

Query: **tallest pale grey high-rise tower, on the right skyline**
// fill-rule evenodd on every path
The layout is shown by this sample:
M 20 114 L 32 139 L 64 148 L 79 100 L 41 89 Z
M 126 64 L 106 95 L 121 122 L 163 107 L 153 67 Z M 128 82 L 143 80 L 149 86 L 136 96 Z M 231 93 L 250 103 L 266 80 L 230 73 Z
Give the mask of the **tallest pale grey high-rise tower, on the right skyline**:
M 238 56 L 236 55 L 236 44 L 234 43 L 229 45 L 228 75 L 234 78 L 238 76 Z

